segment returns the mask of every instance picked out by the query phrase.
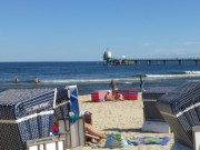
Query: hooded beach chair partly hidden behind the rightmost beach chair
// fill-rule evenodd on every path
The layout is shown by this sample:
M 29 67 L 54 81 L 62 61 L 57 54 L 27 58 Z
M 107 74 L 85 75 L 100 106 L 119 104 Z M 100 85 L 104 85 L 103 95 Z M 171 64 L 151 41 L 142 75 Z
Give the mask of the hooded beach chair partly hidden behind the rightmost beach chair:
M 142 131 L 169 133 L 170 127 L 157 108 L 157 100 L 174 87 L 156 87 L 142 92 L 144 120 Z

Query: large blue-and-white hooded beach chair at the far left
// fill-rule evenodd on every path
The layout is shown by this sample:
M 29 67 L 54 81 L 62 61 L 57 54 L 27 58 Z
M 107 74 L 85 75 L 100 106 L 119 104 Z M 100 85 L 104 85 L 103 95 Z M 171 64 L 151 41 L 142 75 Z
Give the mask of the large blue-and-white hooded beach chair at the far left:
M 57 89 L 0 92 L 0 149 L 26 150 L 26 141 L 50 136 Z

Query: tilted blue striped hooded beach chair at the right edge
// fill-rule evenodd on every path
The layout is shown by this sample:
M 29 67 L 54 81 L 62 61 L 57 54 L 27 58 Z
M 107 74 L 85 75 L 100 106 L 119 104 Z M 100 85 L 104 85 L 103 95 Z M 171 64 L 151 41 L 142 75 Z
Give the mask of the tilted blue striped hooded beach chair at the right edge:
M 200 124 L 200 80 L 187 81 L 158 99 L 158 109 L 174 140 L 193 147 L 192 127 Z

